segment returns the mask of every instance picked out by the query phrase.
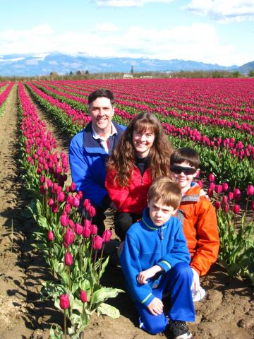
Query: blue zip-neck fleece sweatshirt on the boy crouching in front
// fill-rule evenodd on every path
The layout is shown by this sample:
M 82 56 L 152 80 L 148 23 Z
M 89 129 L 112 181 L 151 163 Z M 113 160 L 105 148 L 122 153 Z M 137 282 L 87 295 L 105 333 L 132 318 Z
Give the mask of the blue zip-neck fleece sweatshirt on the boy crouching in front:
M 120 262 L 131 296 L 135 302 L 147 307 L 155 299 L 152 288 L 159 285 L 164 273 L 176 263 L 190 263 L 181 222 L 171 217 L 164 225 L 157 227 L 150 220 L 149 209 L 145 208 L 143 218 L 135 222 L 126 233 Z M 155 265 L 164 270 L 147 280 L 147 284 L 139 284 L 138 273 Z

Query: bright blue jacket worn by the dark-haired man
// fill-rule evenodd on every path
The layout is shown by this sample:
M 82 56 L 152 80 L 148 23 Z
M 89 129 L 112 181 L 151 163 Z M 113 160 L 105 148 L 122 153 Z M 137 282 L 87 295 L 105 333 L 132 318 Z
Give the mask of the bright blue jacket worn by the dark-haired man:
M 92 137 L 92 122 L 73 136 L 69 147 L 71 177 L 76 190 L 83 191 L 84 198 L 102 208 L 109 207 L 109 197 L 105 189 L 107 157 L 126 129 L 126 126 L 118 125 L 114 121 L 112 123 L 117 134 L 109 137 L 109 154 L 101 147 L 99 140 Z

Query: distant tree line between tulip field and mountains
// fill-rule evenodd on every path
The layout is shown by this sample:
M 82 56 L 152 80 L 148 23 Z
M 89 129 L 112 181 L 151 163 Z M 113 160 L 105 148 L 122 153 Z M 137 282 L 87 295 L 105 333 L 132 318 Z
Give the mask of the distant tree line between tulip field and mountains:
M 90 73 L 86 71 L 70 71 L 68 74 L 50 72 L 46 76 L 1 76 L 1 81 L 32 81 L 32 80 L 86 80 L 86 79 L 121 79 L 124 72 Z M 243 75 L 239 71 L 174 71 L 174 72 L 136 72 L 131 68 L 133 78 L 254 78 L 254 69 Z

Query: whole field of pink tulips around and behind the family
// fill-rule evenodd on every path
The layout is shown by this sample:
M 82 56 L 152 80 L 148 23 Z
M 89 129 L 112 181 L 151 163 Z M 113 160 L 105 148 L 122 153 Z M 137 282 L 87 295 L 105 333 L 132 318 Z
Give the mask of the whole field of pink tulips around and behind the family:
M 92 314 L 120 316 L 107 300 L 124 291 L 101 283 L 109 265 L 104 246 L 112 230 L 97 235 L 95 208 L 75 190 L 68 155 L 56 152 L 56 136 L 45 124 L 51 119 L 68 138 L 74 136 L 90 121 L 87 96 L 97 88 L 114 93 L 117 123 L 126 125 L 135 114 L 152 112 L 174 148 L 188 145 L 198 151 L 197 182 L 217 210 L 219 264 L 229 277 L 254 285 L 254 79 L 3 82 L 0 119 L 11 91 L 18 92 L 20 164 L 32 196 L 27 216 L 38 225 L 34 246 L 52 274 L 42 294 L 63 313 L 62 326 L 50 329 L 55 339 L 86 338 Z M 38 117 L 35 104 L 44 118 Z

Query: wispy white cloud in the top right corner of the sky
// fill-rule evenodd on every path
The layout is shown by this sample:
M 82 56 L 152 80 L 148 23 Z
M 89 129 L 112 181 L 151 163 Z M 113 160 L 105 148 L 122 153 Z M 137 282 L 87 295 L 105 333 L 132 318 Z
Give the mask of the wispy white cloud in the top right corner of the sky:
M 183 8 L 221 23 L 254 20 L 254 0 L 192 0 Z

